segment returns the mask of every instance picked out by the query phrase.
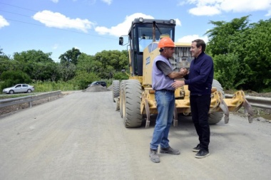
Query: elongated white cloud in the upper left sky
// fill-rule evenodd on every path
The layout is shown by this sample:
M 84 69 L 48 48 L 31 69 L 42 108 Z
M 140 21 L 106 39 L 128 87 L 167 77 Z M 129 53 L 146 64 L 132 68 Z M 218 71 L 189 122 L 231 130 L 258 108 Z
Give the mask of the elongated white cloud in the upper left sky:
M 95 23 L 88 21 L 88 19 L 81 18 L 69 18 L 60 13 L 54 13 L 52 11 L 41 11 L 36 13 L 33 18 L 36 21 L 44 23 L 45 26 L 53 28 L 74 28 L 85 33 L 88 29 L 95 26 Z

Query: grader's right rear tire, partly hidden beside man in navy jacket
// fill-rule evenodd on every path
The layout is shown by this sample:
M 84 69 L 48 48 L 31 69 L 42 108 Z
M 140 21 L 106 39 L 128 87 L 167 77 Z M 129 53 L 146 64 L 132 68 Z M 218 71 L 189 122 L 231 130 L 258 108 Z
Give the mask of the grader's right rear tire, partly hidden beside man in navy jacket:
M 217 88 L 217 90 L 223 94 L 223 97 L 225 97 L 223 88 L 222 88 L 221 84 L 218 82 L 218 80 L 213 80 L 212 87 Z M 208 119 L 209 125 L 217 124 L 218 122 L 220 122 L 220 120 L 222 120 L 222 118 L 223 118 L 223 112 L 210 113 L 209 119 Z

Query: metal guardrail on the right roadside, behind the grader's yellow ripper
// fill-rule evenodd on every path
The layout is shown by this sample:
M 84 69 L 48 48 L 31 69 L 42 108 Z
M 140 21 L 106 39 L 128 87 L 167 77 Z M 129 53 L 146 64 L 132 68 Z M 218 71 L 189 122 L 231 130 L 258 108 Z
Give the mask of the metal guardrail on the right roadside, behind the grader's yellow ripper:
M 232 97 L 233 95 L 225 94 L 225 97 Z M 270 97 L 255 97 L 245 95 L 245 99 L 250 102 L 250 105 L 254 107 L 260 107 L 262 109 L 271 110 L 271 98 Z

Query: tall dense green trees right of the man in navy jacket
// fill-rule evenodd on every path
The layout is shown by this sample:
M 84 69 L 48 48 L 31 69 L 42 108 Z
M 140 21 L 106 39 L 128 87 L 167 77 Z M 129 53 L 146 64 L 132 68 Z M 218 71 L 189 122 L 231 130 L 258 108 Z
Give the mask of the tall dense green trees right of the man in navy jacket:
M 270 20 L 249 24 L 248 17 L 210 21 L 215 28 L 206 33 L 206 52 L 214 57 L 215 78 L 223 86 L 260 91 L 271 83 Z

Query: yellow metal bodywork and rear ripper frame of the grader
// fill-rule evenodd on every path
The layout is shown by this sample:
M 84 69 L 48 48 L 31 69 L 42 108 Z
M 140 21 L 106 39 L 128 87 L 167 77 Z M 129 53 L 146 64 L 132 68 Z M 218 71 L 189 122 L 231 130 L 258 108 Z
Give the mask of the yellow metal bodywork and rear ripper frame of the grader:
M 190 47 L 188 43 L 175 43 L 177 47 Z M 140 102 L 140 113 L 142 115 L 147 115 L 146 127 L 148 127 L 150 123 L 150 115 L 158 114 L 157 104 L 155 101 L 155 90 L 152 89 L 152 66 L 153 59 L 159 54 L 157 48 L 157 42 L 151 43 L 147 48 L 143 51 L 143 76 L 131 76 L 129 79 L 138 80 L 142 85 L 142 95 Z M 129 56 L 131 56 L 129 52 Z M 131 57 L 130 57 L 131 60 Z M 177 88 L 175 90 L 175 121 L 178 121 L 178 113 L 183 113 L 184 115 L 189 115 L 190 110 L 190 91 L 188 90 L 188 85 L 184 85 L 181 88 Z M 240 109 L 240 107 L 245 107 L 245 110 L 249 113 L 249 122 L 252 122 L 252 109 L 245 100 L 245 93 L 240 90 L 235 92 L 232 99 L 223 98 L 223 94 L 216 90 L 216 88 L 212 88 L 211 94 L 211 103 L 210 103 L 210 111 L 212 112 L 223 112 L 225 115 L 225 123 L 229 121 L 229 112 L 236 112 Z M 176 124 L 175 124 L 176 125 Z

